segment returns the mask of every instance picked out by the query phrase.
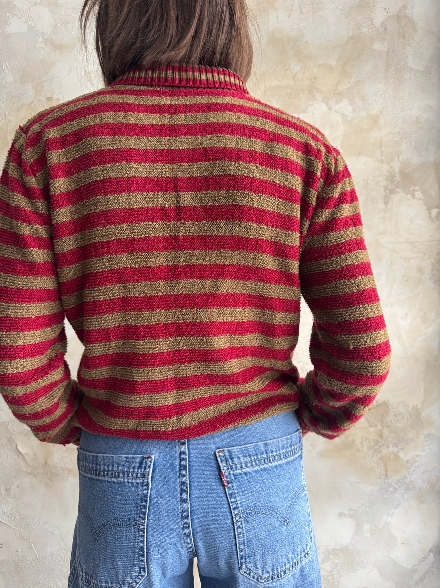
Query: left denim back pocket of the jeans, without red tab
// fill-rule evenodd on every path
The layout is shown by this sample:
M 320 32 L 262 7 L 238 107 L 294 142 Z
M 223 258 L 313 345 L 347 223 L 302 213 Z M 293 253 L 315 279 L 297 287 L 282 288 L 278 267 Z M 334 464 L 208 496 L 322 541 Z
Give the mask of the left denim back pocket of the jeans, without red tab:
M 81 586 L 134 588 L 147 576 L 145 534 L 152 455 L 77 447 L 77 567 Z

